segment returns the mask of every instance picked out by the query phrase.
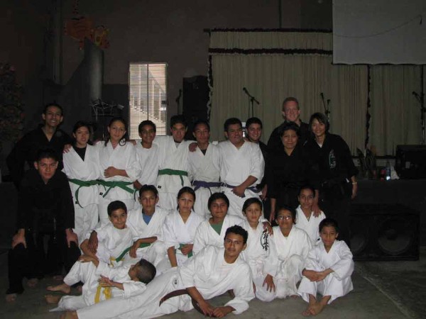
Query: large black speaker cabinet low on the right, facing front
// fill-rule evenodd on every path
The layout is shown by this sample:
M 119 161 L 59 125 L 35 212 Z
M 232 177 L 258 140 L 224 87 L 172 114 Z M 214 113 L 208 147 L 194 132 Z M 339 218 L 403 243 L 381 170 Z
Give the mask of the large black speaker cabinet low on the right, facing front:
M 420 216 L 400 204 L 354 204 L 351 250 L 355 260 L 418 260 Z

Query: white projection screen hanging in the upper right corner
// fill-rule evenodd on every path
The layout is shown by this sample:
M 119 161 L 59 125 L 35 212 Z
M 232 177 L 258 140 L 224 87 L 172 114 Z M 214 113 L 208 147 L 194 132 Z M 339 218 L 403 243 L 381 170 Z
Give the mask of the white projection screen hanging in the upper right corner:
M 426 64 L 426 0 L 333 0 L 333 62 Z

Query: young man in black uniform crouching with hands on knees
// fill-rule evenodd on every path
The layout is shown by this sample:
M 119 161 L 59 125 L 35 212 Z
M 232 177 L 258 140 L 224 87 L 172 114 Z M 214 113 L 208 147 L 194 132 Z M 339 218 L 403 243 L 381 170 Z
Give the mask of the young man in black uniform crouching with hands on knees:
M 58 170 L 54 150 L 39 150 L 21 180 L 17 232 L 9 250 L 9 289 L 6 300 L 23 292 L 22 279 L 34 286 L 45 274 L 68 272 L 80 256 L 74 227 L 74 206 L 66 175 Z M 48 250 L 45 252 L 45 240 Z

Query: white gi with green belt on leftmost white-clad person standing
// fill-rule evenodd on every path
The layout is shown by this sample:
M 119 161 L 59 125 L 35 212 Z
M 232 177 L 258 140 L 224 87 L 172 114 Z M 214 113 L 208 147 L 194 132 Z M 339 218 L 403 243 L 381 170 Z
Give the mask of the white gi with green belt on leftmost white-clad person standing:
M 81 181 L 92 181 L 100 179 L 101 169 L 99 167 L 99 152 L 97 147 L 87 145 L 84 154 L 84 161 L 80 155 L 75 152 L 74 148 L 70 148 L 70 152 L 63 155 L 64 172 L 69 179 L 80 179 Z M 77 234 L 79 245 L 84 240 L 84 235 L 88 231 L 93 230 L 99 220 L 98 203 L 99 203 L 99 187 L 78 186 L 70 182 L 72 191 L 72 201 L 74 202 L 75 226 L 74 233 Z M 78 190 L 78 203 L 77 203 Z

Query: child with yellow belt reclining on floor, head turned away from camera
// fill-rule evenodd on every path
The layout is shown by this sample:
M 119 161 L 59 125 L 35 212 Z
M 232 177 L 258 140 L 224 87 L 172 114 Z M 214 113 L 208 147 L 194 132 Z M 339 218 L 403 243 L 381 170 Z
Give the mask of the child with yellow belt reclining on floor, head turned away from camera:
M 49 286 L 49 291 L 70 293 L 71 286 L 83 282 L 81 296 L 46 295 L 48 303 L 58 303 L 50 311 L 77 310 L 110 298 L 129 298 L 146 289 L 155 277 L 155 267 L 141 259 L 131 266 L 111 268 L 92 256 L 82 255 L 65 276 L 63 284 Z

